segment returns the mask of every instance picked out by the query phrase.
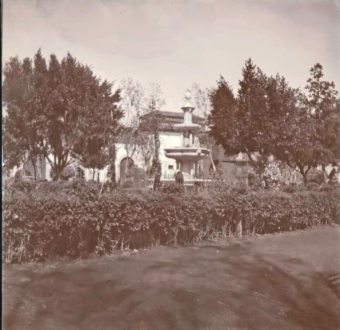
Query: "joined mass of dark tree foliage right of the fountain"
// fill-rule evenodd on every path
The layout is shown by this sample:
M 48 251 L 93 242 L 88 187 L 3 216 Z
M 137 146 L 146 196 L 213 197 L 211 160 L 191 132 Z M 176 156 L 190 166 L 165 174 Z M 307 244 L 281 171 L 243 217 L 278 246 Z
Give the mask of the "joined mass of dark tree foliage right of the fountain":
M 301 173 L 339 159 L 339 101 L 322 66 L 310 70 L 306 96 L 283 76 L 267 76 L 251 59 L 242 69 L 237 98 L 221 76 L 211 89 L 208 124 L 228 155 L 244 152 L 260 177 L 274 156 Z

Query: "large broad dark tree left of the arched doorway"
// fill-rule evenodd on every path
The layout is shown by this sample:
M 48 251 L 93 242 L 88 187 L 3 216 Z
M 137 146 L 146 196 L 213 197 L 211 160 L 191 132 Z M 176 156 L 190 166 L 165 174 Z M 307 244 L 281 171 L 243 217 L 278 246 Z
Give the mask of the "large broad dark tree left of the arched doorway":
M 104 145 L 117 134 L 119 90 L 112 93 L 112 83 L 69 53 L 61 62 L 52 54 L 48 66 L 40 50 L 33 64 L 11 58 L 3 75 L 4 137 L 16 141 L 19 150 L 44 155 L 56 180 L 91 141 Z

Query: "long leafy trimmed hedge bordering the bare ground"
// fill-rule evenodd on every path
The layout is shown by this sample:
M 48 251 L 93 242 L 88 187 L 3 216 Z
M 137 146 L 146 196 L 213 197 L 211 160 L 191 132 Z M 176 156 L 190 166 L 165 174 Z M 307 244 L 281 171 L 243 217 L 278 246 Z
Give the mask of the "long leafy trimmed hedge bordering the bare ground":
M 31 194 L 5 196 L 3 260 L 99 255 L 170 242 L 199 242 L 339 223 L 339 189 L 145 195 L 113 192 L 98 200 L 98 187 L 50 183 Z M 65 185 L 65 184 L 64 184 Z M 53 188 L 52 192 L 49 189 Z

